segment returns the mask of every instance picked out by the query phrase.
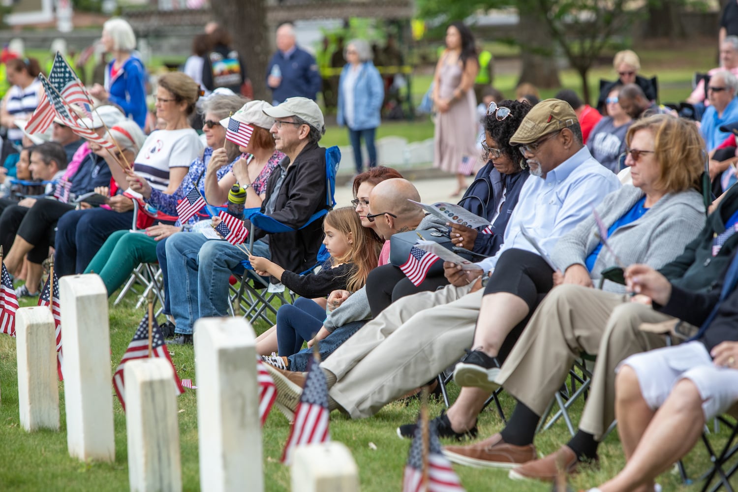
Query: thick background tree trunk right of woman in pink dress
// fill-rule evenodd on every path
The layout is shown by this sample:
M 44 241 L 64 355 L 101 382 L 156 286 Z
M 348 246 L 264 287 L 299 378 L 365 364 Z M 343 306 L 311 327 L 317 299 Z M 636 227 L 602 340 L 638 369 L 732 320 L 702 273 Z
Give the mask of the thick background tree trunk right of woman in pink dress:
M 561 86 L 559 69 L 554 57 L 554 40 L 548 31 L 545 21 L 539 17 L 537 6 L 532 2 L 521 2 L 520 12 L 520 58 L 523 69 L 518 85 L 523 82 L 532 83 L 541 89 L 553 89 Z

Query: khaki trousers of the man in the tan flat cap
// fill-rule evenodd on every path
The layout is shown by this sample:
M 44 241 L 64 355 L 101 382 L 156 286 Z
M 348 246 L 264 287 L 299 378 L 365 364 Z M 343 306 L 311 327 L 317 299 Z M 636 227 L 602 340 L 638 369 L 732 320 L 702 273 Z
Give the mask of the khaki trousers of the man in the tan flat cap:
M 352 418 L 426 384 L 472 345 L 484 289 L 453 285 L 390 304 L 320 367 L 337 378 L 330 395 Z

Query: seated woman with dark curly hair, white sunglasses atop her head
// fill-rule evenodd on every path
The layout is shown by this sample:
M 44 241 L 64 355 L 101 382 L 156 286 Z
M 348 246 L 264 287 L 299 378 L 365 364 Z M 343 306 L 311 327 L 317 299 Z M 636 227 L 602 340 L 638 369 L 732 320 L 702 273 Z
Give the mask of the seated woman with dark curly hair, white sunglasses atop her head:
M 481 145 L 483 159 L 487 163 L 477 173 L 477 178 L 458 204 L 489 220 L 492 227 L 484 231 L 446 224 L 453 246 L 469 249 L 480 257 L 492 256 L 500 249 L 520 189 L 530 176 L 520 153 L 509 144 L 509 140 L 530 110 L 528 103 L 512 100 L 502 101 L 499 106 L 494 102 L 488 106 L 486 116 L 481 119 L 485 134 Z M 428 275 L 423 283 L 416 286 L 398 267 L 391 264 L 378 267 L 369 274 L 367 280 L 371 311 L 377 316 L 400 297 L 421 291 L 435 291 L 448 283 L 443 272 L 439 272 Z

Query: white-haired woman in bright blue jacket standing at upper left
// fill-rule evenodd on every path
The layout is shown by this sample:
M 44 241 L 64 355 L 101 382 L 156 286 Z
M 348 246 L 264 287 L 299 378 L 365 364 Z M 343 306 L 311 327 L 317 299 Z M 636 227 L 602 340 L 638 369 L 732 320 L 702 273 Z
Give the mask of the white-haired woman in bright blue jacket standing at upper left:
M 122 18 L 111 18 L 103 24 L 100 38 L 106 53 L 113 59 L 105 70 L 105 86 L 95 84 L 90 94 L 101 101 L 110 101 L 123 108 L 143 128 L 146 123 L 146 72 L 139 58 L 131 55 L 136 47 L 136 35 L 131 24 Z

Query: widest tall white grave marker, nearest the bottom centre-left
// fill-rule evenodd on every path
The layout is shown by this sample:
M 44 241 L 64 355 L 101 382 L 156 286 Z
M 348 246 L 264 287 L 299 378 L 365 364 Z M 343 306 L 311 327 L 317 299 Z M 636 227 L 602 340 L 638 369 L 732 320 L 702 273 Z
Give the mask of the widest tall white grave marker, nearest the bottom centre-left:
M 263 491 L 256 342 L 242 318 L 195 322 L 203 491 Z

